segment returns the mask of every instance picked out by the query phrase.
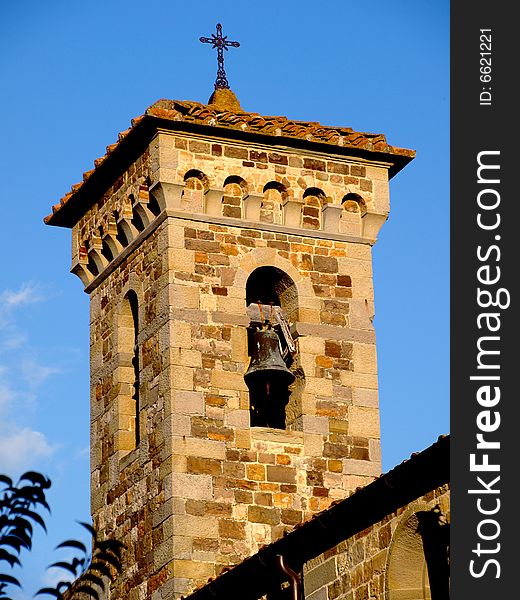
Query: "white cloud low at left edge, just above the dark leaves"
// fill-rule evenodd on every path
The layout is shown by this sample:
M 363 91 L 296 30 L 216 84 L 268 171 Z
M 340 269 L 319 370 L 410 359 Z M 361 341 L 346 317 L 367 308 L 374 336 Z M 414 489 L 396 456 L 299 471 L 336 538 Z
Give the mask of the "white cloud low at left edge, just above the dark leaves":
M 43 433 L 24 427 L 0 433 L 0 472 L 22 473 L 34 469 L 55 451 Z

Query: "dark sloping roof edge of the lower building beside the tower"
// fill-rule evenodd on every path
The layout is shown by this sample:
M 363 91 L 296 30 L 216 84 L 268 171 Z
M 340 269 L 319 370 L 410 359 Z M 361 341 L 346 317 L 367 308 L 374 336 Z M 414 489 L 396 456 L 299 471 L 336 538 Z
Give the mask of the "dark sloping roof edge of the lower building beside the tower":
M 257 554 L 202 585 L 187 600 L 232 598 L 240 590 L 242 600 L 256 600 L 279 583 L 276 557 L 301 566 L 340 542 L 378 523 L 413 500 L 449 483 L 450 436 L 422 452 L 416 452 L 344 500 L 336 501 L 283 538 L 264 546 Z

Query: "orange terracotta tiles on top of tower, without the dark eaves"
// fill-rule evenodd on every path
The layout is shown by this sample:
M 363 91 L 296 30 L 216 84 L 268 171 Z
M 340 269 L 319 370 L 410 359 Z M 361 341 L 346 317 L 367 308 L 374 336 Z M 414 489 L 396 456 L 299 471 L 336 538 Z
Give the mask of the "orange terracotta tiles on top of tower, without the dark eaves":
M 130 141 L 131 138 L 137 137 L 137 131 L 142 129 L 143 125 L 151 120 L 154 120 L 156 123 L 160 121 L 161 123 L 170 123 L 172 125 L 186 123 L 215 127 L 220 129 L 220 133 L 224 133 L 224 135 L 225 130 L 228 130 L 230 132 L 236 131 L 283 138 L 284 143 L 292 139 L 328 144 L 335 146 L 336 150 L 339 150 L 339 148 L 350 148 L 356 151 L 363 151 L 364 153 L 386 154 L 389 159 L 393 157 L 389 162 L 402 163 L 397 170 L 400 170 L 404 164 L 415 156 L 415 151 L 413 150 L 390 146 L 386 141 L 386 137 L 382 134 L 361 133 L 354 131 L 350 127 L 328 127 L 317 122 L 292 121 L 286 117 L 267 117 L 258 113 L 231 111 L 223 109 L 218 105 L 163 99 L 152 104 L 143 115 L 132 119 L 131 127 L 122 131 L 118 136 L 117 142 L 107 146 L 105 155 L 94 161 L 94 169 L 83 173 L 83 181 L 74 184 L 70 192 L 65 194 L 60 202 L 52 207 L 52 213 L 44 219 L 45 223 L 63 225 L 61 222 L 62 219 L 57 218 L 56 215 L 62 211 L 64 206 L 69 205 L 73 201 L 74 197 L 85 185 L 96 178 L 101 166 L 105 166 L 111 162 L 112 155 L 125 144 L 125 140 L 128 139 Z M 334 152 L 332 149 L 330 151 Z

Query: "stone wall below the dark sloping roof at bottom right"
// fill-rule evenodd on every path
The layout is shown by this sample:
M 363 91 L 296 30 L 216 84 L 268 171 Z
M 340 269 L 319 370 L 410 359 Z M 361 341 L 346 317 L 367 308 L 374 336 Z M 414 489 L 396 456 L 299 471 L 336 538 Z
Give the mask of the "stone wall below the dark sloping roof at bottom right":
M 382 521 L 305 564 L 306 600 L 430 598 L 422 541 L 414 515 L 440 510 L 450 521 L 448 486 L 387 515 Z

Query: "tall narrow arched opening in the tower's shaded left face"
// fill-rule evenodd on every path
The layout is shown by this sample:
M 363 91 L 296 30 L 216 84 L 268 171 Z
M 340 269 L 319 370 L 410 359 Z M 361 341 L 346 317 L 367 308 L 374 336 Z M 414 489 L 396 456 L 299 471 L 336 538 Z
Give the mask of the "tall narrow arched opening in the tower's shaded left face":
M 139 304 L 137 294 L 130 290 L 123 299 L 119 313 L 119 368 L 120 368 L 120 429 L 133 433 L 133 447 L 139 445 Z M 130 402 L 125 402 L 125 397 Z

